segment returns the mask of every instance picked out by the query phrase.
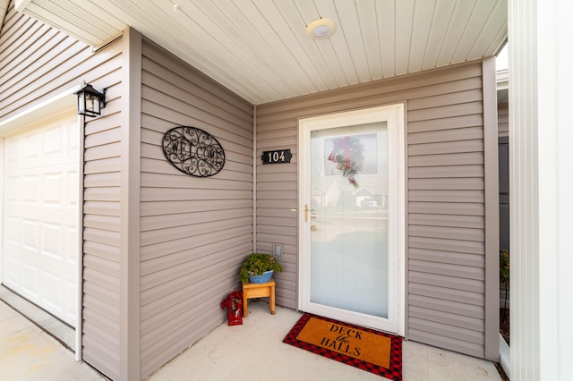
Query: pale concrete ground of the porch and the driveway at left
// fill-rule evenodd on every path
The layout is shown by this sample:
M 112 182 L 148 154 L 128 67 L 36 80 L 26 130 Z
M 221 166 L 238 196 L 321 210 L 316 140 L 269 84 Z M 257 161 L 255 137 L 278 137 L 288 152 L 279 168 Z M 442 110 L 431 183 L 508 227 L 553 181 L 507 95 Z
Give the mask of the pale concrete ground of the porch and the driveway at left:
M 6 304 L 4 293 L 0 292 L 0 380 L 107 379 L 88 364 L 75 361 L 73 351 Z M 26 310 L 22 313 L 28 315 Z M 148 379 L 384 379 L 282 343 L 300 317 L 301 313 L 279 306 L 273 316 L 264 300 L 249 301 L 249 317 L 243 326 L 218 326 Z M 491 361 L 405 341 L 403 379 L 480 381 L 501 377 Z

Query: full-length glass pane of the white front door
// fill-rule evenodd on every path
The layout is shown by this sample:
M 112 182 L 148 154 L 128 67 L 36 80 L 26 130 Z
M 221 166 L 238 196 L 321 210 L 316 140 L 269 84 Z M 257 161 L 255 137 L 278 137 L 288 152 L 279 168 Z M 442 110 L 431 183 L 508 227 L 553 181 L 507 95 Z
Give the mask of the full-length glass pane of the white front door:
M 388 318 L 386 122 L 311 131 L 310 301 Z

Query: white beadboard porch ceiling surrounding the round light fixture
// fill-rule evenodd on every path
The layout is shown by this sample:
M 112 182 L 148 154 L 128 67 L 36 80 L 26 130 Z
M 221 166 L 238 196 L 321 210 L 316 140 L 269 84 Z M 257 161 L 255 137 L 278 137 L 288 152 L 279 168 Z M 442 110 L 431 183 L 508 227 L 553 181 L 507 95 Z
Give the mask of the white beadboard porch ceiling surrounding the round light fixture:
M 252 104 L 496 55 L 507 0 L 16 0 L 101 47 L 128 26 Z M 337 25 L 313 40 L 318 18 Z

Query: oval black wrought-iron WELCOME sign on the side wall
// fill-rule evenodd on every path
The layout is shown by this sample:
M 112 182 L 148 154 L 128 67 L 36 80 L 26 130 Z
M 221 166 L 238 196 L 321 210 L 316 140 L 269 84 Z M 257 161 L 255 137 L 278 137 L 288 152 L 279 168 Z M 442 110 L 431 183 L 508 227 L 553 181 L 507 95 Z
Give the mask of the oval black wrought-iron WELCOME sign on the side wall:
M 223 169 L 225 151 L 218 140 L 196 127 L 179 126 L 163 137 L 163 153 L 184 174 L 209 177 Z

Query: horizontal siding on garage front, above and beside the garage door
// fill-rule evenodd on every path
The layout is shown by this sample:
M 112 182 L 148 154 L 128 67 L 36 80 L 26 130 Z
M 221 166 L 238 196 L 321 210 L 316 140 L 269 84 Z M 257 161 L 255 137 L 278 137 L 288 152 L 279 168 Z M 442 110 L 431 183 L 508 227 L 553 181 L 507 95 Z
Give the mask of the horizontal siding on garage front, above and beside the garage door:
M 0 36 L 0 120 L 81 80 L 107 88 L 105 116 L 87 118 L 84 140 L 83 359 L 111 378 L 120 368 L 121 44 L 94 53 L 42 22 L 15 12 Z

